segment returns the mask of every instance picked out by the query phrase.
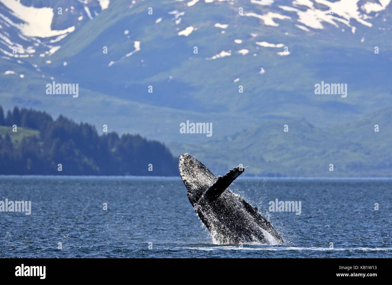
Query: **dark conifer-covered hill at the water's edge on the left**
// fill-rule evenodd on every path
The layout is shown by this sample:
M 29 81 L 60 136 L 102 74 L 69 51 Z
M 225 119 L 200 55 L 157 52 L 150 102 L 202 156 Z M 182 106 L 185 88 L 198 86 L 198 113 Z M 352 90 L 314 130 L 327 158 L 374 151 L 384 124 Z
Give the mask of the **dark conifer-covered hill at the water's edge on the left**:
M 103 130 L 107 126 L 103 126 Z M 160 142 L 105 132 L 63 116 L 0 106 L 0 175 L 175 176 L 177 159 Z

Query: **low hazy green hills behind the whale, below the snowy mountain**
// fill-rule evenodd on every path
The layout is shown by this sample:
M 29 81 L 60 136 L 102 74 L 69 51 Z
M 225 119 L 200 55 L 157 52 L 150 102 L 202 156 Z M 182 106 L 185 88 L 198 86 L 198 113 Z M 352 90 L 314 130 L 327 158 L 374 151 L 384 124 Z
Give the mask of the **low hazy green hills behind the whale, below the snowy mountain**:
M 214 162 L 214 173 L 225 173 L 241 163 L 247 168 L 244 175 L 391 177 L 391 112 L 392 108 L 387 107 L 357 121 L 327 128 L 307 121 L 269 121 L 202 146 L 173 143 L 171 149 Z M 288 132 L 284 131 L 285 125 Z M 333 171 L 330 164 L 334 165 Z

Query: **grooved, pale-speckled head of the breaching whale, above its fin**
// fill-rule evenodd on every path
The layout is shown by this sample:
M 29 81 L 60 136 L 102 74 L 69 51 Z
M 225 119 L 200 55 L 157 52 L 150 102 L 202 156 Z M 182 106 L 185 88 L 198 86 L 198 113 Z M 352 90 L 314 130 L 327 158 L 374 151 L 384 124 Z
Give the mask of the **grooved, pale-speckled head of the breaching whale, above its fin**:
M 181 179 L 187 188 L 188 198 L 193 206 L 217 179 L 204 164 L 188 153 L 180 155 L 178 170 L 180 170 Z

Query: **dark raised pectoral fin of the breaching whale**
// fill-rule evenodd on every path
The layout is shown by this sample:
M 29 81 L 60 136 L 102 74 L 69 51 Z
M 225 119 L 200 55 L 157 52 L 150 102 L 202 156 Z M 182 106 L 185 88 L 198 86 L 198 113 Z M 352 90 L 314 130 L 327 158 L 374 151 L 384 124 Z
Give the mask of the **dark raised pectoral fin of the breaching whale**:
M 235 167 L 230 170 L 224 176 L 218 176 L 218 180 L 215 181 L 201 196 L 200 200 L 213 202 L 215 201 L 230 184 L 244 172 L 244 168 Z

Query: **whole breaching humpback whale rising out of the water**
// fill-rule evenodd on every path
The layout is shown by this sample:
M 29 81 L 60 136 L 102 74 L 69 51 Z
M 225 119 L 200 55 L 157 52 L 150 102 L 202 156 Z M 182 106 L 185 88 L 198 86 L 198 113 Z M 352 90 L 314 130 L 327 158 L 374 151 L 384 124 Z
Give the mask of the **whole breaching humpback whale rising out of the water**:
M 243 173 L 243 168 L 235 167 L 216 177 L 200 161 L 184 153 L 180 155 L 178 169 L 193 209 L 218 244 L 265 244 L 265 232 L 283 244 L 283 238 L 258 213 L 257 207 L 227 189 Z

